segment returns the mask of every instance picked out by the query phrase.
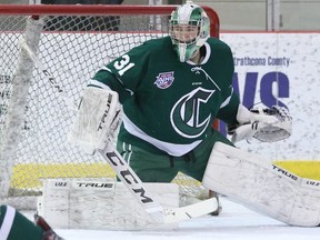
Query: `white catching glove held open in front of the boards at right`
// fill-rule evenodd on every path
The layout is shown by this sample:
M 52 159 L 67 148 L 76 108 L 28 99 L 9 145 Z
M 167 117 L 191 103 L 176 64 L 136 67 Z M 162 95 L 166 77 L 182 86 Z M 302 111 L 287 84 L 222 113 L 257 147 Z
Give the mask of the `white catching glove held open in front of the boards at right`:
M 270 109 L 248 110 L 239 106 L 237 120 L 238 128 L 228 127 L 232 133 L 231 141 L 256 138 L 262 142 L 274 142 L 287 139 L 292 132 L 292 118 L 287 108 L 273 106 Z

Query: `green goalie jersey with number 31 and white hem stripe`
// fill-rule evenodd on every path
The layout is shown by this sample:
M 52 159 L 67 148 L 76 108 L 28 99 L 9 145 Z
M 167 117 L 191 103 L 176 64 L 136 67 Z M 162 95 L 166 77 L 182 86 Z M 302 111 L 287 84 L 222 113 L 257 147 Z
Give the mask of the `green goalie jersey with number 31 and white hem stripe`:
M 146 41 L 96 73 L 89 86 L 119 93 L 122 141 L 141 140 L 182 156 L 206 138 L 216 118 L 237 123 L 230 48 L 210 38 L 201 53 L 200 64 L 180 62 L 166 37 Z

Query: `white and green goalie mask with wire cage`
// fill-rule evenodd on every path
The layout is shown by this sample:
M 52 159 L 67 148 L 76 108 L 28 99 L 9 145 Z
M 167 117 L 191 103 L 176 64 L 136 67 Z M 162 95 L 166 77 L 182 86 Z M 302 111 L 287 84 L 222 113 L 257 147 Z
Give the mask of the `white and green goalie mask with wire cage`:
M 191 1 L 171 13 L 169 34 L 181 62 L 194 56 L 209 38 L 209 33 L 210 21 L 207 13 Z

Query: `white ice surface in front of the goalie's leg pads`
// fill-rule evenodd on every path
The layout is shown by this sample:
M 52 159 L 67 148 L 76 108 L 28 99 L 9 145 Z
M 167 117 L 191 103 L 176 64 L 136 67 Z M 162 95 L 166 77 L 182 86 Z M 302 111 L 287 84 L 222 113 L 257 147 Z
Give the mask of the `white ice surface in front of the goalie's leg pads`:
M 221 198 L 219 217 L 206 216 L 166 231 L 56 229 L 66 240 L 320 240 L 319 228 L 290 227 Z

